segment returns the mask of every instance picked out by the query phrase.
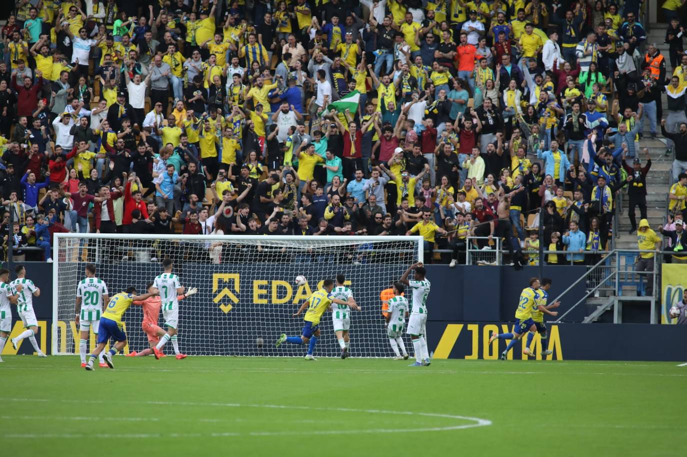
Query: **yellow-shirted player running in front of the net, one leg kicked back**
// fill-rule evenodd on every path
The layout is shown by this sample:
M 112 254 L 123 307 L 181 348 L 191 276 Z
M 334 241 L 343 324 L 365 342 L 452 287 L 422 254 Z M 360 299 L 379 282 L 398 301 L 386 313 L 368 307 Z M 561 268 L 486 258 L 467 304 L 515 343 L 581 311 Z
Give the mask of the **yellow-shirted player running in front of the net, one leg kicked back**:
M 308 353 L 305 356 L 305 360 L 315 360 L 313 357 L 313 349 L 315 349 L 315 344 L 317 344 L 317 338 L 319 338 L 319 320 L 322 318 L 322 314 L 330 309 L 331 304 L 335 303 L 337 305 L 348 305 L 348 301 L 339 300 L 332 295 L 332 290 L 334 288 L 334 281 L 331 279 L 325 279 L 322 283 L 322 289 L 313 292 L 313 294 L 308 298 L 298 309 L 298 312 L 293 314 L 293 317 L 300 316 L 306 308 L 308 311 L 305 314 L 303 320 L 305 324 L 303 326 L 303 331 L 301 336 L 286 336 L 286 333 L 282 333 L 277 340 L 277 347 L 282 344 L 282 342 L 288 342 L 291 344 L 308 344 Z

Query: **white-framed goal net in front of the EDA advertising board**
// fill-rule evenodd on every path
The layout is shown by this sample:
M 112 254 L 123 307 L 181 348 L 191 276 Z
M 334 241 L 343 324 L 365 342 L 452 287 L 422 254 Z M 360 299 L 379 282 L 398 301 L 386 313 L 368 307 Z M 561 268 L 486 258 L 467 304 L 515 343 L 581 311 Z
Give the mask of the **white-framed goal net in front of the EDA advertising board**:
M 189 355 L 304 355 L 306 347 L 282 344 L 281 333 L 301 334 L 298 307 L 324 279 L 346 275 L 361 311 L 351 312 L 350 353 L 388 357 L 380 293 L 405 268 L 423 259 L 422 237 L 299 237 L 104 235 L 56 233 L 52 353 L 78 353 L 74 306 L 86 263 L 113 296 L 131 285 L 139 294 L 162 272 L 161 261 L 174 261 L 181 285 L 199 292 L 179 302 L 179 346 Z M 295 285 L 302 274 L 308 283 Z M 124 353 L 148 348 L 143 313 L 132 305 L 124 314 L 128 337 Z M 163 327 L 162 316 L 159 323 Z M 326 312 L 316 355 L 337 356 L 339 344 Z M 89 349 L 94 344 L 91 334 Z M 411 348 L 409 340 L 407 349 Z M 171 350 L 171 347 L 168 351 Z

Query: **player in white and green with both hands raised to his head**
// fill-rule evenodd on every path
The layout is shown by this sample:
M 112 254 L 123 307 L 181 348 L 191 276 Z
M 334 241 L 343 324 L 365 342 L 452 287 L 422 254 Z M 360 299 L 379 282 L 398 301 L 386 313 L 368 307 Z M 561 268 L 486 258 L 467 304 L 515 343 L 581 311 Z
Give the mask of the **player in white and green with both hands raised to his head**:
M 408 279 L 411 270 L 415 269 L 415 279 Z M 400 281 L 413 290 L 413 301 L 411 303 L 411 313 L 408 319 L 408 330 L 410 339 L 415 350 L 415 363 L 409 366 L 429 366 L 429 350 L 427 340 L 425 340 L 425 327 L 427 325 L 427 296 L 431 287 L 427 278 L 427 270 L 422 262 L 413 263 L 403 273 Z

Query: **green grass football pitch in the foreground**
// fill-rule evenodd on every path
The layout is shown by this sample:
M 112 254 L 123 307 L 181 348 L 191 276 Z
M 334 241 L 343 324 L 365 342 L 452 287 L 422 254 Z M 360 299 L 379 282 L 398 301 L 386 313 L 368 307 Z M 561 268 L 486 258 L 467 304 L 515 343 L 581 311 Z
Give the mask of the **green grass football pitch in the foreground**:
M 675 456 L 687 429 L 677 363 L 4 359 L 8 456 Z

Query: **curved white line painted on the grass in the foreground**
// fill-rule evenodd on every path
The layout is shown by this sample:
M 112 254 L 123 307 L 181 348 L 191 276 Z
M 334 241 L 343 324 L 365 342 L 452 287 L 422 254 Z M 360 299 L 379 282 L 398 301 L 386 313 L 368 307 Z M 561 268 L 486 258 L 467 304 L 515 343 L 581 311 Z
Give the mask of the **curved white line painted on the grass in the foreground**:
M 38 401 L 45 402 L 51 401 L 53 403 L 106 403 L 102 400 L 69 400 L 69 399 L 59 399 L 59 400 L 49 400 L 49 399 L 30 399 L 30 398 L 5 398 L 5 401 Z M 447 425 L 444 427 L 418 427 L 410 429 L 362 429 L 362 430 L 346 430 L 347 433 L 354 434 L 376 434 L 376 433 L 415 433 L 415 432 L 444 432 L 449 430 L 465 430 L 474 427 L 484 427 L 486 425 L 491 425 L 491 421 L 488 419 L 480 419 L 479 417 L 468 417 L 468 416 L 457 416 L 453 414 L 440 414 L 433 412 L 412 412 L 412 411 L 390 411 L 390 410 L 361 410 L 356 408 L 326 408 L 326 407 L 309 407 L 309 406 L 286 406 L 286 405 L 260 405 L 260 404 L 241 404 L 241 403 L 200 403 L 192 401 L 119 401 L 118 403 L 135 403 L 135 404 L 148 404 L 148 405 L 163 405 L 163 406 L 217 406 L 221 408 L 270 408 L 270 409 L 283 409 L 283 410 L 318 410 L 324 412 L 357 412 L 363 414 L 390 414 L 390 415 L 403 415 L 403 416 L 423 416 L 423 417 L 439 417 L 442 419 L 452 419 L 458 421 L 471 421 L 471 423 L 459 424 L 459 425 Z M 340 430 L 294 430 L 294 431 L 283 431 L 283 432 L 206 432 L 206 433 L 122 433 L 122 434 L 101 434 L 98 435 L 101 438 L 203 438 L 203 437 L 227 437 L 227 436 L 297 436 L 297 435 L 330 435 L 330 434 L 340 434 Z M 34 434 L 34 433 L 18 433 L 18 434 L 5 434 L 4 438 L 21 438 L 21 439 L 38 439 L 38 438 L 87 438 L 91 434 L 87 433 L 56 433 L 56 434 Z

